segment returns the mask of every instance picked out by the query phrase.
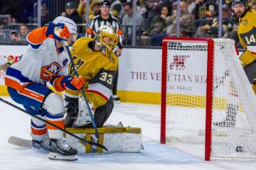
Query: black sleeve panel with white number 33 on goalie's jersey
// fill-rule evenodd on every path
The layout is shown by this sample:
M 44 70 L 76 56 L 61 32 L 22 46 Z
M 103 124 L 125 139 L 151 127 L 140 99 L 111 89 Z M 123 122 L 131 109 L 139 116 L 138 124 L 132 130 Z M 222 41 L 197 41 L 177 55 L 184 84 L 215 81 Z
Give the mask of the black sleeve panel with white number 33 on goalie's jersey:
M 106 86 L 107 89 L 112 90 L 114 77 L 116 74 L 117 71 L 100 69 L 100 72 L 98 72 L 95 77 L 90 79 L 89 84 L 102 84 L 103 86 Z

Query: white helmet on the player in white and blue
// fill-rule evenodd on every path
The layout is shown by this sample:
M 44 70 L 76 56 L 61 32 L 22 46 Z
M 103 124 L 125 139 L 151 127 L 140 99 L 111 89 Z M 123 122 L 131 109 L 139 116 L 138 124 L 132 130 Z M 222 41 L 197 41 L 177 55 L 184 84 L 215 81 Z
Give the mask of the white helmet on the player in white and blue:
M 73 35 L 73 40 L 75 41 L 78 38 L 78 26 L 73 20 L 65 16 L 58 16 L 53 20 L 53 23 L 64 23 L 68 27 L 69 32 Z

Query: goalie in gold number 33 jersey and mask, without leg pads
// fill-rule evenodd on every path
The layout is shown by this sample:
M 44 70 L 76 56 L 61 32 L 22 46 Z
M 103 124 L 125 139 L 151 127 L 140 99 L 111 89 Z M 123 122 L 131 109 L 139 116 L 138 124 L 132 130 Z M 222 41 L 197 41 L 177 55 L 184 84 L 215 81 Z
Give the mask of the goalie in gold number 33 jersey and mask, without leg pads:
M 94 39 L 80 38 L 71 49 L 78 74 L 85 78 L 85 96 L 97 127 L 102 127 L 114 107 L 112 84 L 118 67 L 118 58 L 114 54 L 118 41 L 112 26 L 101 26 Z M 70 74 L 74 74 L 71 66 Z M 90 113 L 80 98 L 80 91 L 67 90 L 64 96 L 65 128 L 92 128 Z

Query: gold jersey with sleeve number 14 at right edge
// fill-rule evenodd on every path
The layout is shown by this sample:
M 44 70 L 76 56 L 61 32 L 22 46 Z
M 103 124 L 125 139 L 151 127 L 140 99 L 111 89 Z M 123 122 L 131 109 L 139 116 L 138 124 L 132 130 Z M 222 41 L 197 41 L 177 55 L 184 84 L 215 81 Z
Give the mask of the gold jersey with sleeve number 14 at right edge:
M 239 18 L 238 38 L 245 52 L 240 56 L 244 65 L 256 60 L 256 12 L 247 11 L 245 16 Z

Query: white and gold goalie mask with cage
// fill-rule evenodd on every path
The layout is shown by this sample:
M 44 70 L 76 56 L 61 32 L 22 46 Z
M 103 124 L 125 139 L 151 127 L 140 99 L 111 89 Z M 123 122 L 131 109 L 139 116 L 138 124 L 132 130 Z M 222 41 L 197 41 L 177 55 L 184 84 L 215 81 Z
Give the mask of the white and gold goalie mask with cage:
M 101 26 L 95 35 L 96 45 L 100 46 L 103 54 L 109 56 L 111 51 L 117 49 L 119 38 L 117 31 L 110 25 Z

